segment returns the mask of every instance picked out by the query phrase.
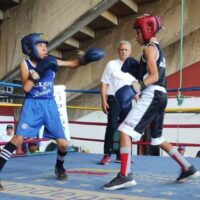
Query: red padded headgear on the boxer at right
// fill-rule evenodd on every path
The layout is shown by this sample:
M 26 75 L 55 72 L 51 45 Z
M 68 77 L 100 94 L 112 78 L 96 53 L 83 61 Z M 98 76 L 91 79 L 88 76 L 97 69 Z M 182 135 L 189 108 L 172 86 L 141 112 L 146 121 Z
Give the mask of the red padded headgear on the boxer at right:
M 133 26 L 135 29 L 141 30 L 144 42 L 149 42 L 151 37 L 155 36 L 155 34 L 162 28 L 162 21 L 158 16 L 146 14 L 138 17 Z M 151 31 L 148 30 L 148 27 L 151 28 Z

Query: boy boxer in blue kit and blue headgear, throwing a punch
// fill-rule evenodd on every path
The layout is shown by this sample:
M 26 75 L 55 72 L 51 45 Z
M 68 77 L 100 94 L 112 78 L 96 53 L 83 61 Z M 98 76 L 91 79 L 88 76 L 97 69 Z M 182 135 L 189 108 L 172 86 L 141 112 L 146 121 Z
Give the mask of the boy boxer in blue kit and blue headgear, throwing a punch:
M 55 174 L 59 180 L 65 180 L 67 141 L 53 96 L 55 74 L 59 66 L 75 68 L 86 65 L 100 60 L 104 52 L 99 48 L 91 48 L 79 59 L 63 61 L 48 55 L 48 40 L 44 34 L 27 35 L 22 38 L 21 44 L 23 53 L 29 57 L 20 64 L 22 88 L 26 97 L 16 133 L 0 153 L 0 171 L 12 153 L 21 146 L 23 139 L 35 138 L 44 125 L 44 137 L 55 139 L 58 145 Z

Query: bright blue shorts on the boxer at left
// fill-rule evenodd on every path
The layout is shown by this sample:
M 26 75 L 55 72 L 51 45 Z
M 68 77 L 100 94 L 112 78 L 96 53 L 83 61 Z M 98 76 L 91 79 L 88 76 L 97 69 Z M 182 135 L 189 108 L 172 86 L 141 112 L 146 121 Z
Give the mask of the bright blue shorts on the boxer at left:
M 42 125 L 43 138 L 66 139 L 54 99 L 25 99 L 16 135 L 35 138 Z

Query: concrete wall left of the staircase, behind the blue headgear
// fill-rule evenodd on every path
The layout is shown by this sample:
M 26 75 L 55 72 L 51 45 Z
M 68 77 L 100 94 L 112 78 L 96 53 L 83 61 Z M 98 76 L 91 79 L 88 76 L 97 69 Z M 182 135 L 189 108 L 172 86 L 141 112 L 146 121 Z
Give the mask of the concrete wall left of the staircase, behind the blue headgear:
M 52 40 L 100 1 L 23 0 L 19 6 L 5 11 L 4 21 L 0 24 L 0 78 L 24 57 L 20 44 L 23 36 L 40 32 Z

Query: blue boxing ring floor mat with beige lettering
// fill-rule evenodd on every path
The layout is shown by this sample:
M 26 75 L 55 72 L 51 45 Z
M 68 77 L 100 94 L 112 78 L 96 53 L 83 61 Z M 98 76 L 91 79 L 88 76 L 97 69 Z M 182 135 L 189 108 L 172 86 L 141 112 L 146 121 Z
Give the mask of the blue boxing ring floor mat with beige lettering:
M 11 158 L 0 174 L 2 200 L 123 200 L 123 199 L 200 199 L 200 178 L 175 183 L 180 168 L 169 157 L 132 156 L 137 185 L 105 191 L 102 186 L 113 179 L 120 164 L 115 156 L 108 165 L 99 165 L 101 154 L 69 152 L 65 159 L 68 179 L 58 181 L 54 174 L 55 153 Z M 200 169 L 199 158 L 186 158 Z

